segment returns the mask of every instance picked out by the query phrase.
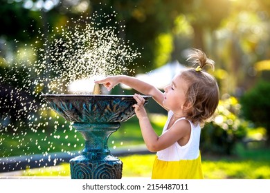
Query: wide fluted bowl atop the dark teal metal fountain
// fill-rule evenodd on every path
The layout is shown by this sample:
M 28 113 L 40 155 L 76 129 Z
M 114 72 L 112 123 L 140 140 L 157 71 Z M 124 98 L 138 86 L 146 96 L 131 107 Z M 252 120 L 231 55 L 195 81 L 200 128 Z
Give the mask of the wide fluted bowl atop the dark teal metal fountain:
M 66 121 L 80 123 L 123 122 L 135 115 L 133 95 L 42 94 L 51 108 Z M 151 96 L 144 96 L 145 104 Z

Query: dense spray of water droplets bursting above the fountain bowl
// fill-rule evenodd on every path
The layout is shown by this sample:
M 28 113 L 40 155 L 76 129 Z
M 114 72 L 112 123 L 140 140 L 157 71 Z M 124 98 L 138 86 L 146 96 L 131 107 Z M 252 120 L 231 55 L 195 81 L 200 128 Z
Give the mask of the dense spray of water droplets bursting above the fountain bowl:
M 128 72 L 125 64 L 131 63 L 139 53 L 121 44 L 123 40 L 115 31 L 111 26 L 100 30 L 91 24 L 82 29 L 80 26 L 57 28 L 62 38 L 55 37 L 52 43 L 45 43 L 48 50 L 42 50 L 43 57 L 34 64 L 34 70 L 37 75 L 47 72 L 48 90 L 59 94 L 69 92 L 68 85 L 78 79 Z M 42 85 L 46 79 L 42 76 L 35 83 Z

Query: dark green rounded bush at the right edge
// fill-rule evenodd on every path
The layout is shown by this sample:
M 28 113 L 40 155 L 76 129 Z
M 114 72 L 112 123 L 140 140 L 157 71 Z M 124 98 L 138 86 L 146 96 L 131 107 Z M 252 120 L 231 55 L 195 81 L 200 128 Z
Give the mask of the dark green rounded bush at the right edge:
M 255 125 L 267 129 L 267 141 L 270 142 L 270 82 L 260 81 L 240 99 L 242 114 Z

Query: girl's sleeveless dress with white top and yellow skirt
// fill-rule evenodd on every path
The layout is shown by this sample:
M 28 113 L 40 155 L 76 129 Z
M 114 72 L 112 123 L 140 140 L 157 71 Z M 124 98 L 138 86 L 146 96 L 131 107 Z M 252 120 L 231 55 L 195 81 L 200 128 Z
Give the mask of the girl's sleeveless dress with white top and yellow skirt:
M 163 133 L 166 132 L 171 117 L 172 112 L 169 112 Z M 186 118 L 181 118 L 177 121 L 182 119 Z M 180 146 L 176 142 L 169 148 L 156 153 L 152 179 L 204 179 L 201 168 L 201 154 L 199 152 L 201 128 L 199 125 L 194 125 L 191 122 L 190 125 L 190 139 L 186 145 Z

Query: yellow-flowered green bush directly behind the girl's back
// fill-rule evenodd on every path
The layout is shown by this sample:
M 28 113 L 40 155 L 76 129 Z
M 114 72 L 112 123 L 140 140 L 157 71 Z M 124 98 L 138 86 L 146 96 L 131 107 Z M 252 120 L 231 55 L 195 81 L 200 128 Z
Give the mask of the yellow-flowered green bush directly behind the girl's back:
M 240 105 L 235 97 L 219 101 L 217 116 L 201 130 L 201 152 L 233 154 L 235 144 L 246 136 L 248 123 L 239 119 Z

